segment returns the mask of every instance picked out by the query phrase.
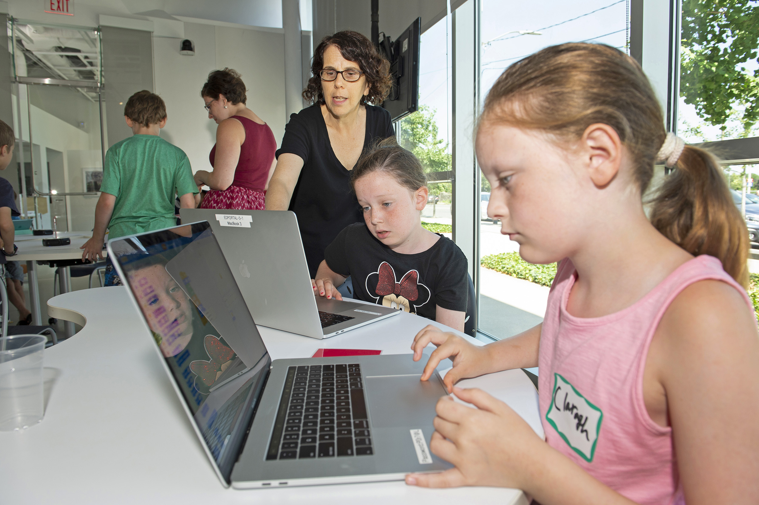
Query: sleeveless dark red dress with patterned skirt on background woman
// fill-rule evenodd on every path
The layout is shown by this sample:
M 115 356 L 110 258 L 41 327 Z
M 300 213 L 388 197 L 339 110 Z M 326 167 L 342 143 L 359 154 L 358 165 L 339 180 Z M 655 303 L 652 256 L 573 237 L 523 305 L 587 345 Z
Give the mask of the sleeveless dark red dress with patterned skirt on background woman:
M 274 133 L 269 125 L 258 124 L 242 116 L 232 116 L 245 128 L 245 141 L 240 146 L 240 158 L 235 168 L 235 179 L 226 190 L 209 190 L 200 209 L 263 210 L 266 179 L 272 167 L 277 148 Z M 211 166 L 216 158 L 216 145 L 211 149 Z

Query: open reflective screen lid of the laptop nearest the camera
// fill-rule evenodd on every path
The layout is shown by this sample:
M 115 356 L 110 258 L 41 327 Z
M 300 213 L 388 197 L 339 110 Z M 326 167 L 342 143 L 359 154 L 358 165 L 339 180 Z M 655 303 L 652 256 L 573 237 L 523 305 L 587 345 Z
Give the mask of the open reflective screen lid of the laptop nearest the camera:
M 228 485 L 270 359 L 216 237 L 200 222 L 109 240 L 108 253 Z

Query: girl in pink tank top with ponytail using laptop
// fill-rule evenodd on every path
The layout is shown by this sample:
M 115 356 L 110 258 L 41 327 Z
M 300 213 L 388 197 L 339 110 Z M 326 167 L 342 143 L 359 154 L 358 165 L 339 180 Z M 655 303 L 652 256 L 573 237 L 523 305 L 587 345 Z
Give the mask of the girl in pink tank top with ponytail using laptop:
M 453 359 L 430 450 L 455 468 L 408 484 L 521 488 L 549 503 L 759 503 L 759 334 L 748 234 L 713 155 L 663 128 L 638 63 L 571 43 L 488 93 L 477 159 L 488 215 L 533 263 L 559 262 L 543 323 L 475 347 L 428 326 L 423 380 Z M 657 181 L 655 163 L 672 169 Z M 647 217 L 648 215 L 648 217 Z M 461 378 L 539 366 L 545 441 Z

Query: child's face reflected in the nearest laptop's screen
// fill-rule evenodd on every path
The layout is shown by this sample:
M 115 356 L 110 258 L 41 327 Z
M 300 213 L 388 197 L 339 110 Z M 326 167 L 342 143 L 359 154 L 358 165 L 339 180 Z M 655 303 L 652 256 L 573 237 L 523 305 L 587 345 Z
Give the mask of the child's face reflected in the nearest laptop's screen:
M 150 329 L 162 337 L 163 355 L 177 355 L 192 337 L 190 299 L 162 265 L 138 270 L 131 274 L 130 282 L 138 286 L 138 302 Z

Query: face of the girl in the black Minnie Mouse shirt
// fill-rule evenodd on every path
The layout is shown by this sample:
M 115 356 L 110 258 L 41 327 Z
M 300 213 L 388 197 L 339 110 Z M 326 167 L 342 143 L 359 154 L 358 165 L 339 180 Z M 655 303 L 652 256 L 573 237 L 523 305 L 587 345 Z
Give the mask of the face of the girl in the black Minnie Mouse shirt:
M 355 188 L 364 221 L 374 237 L 391 248 L 405 243 L 419 224 L 420 209 L 414 202 L 414 191 L 380 171 L 358 179 Z

